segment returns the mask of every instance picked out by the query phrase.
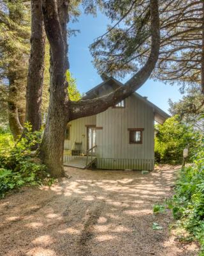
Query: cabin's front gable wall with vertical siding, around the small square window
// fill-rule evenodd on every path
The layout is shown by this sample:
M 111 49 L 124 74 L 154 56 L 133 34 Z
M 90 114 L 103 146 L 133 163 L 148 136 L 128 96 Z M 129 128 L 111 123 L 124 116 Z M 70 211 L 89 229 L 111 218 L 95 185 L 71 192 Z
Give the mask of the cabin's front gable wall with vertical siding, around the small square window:
M 131 95 L 125 108 L 108 108 L 96 116 L 98 168 L 154 169 L 154 113 Z M 129 144 L 128 128 L 143 128 L 142 144 Z

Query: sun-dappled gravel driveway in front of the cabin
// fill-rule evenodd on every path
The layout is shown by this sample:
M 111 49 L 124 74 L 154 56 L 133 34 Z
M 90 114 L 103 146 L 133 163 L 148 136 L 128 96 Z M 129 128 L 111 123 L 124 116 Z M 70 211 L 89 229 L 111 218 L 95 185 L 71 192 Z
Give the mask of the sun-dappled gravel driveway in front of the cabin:
M 170 196 L 176 170 L 141 172 L 66 168 L 71 179 L 23 188 L 0 201 L 1 256 L 190 256 L 195 243 L 180 243 L 170 212 L 152 206 Z M 152 223 L 162 230 L 152 230 Z

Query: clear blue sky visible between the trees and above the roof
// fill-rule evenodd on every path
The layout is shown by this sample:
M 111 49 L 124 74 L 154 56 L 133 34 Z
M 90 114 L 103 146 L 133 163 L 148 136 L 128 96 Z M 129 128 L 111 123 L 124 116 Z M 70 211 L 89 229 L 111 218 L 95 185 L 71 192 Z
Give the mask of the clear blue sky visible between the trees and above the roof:
M 95 38 L 105 33 L 107 24 L 110 24 L 110 21 L 102 13 L 98 13 L 97 17 L 82 13 L 78 22 L 69 24 L 71 29 L 80 30 L 77 36 L 71 36 L 69 39 L 70 71 L 73 77 L 77 79 L 77 88 L 80 93 L 85 93 L 102 82 L 101 77 L 92 64 L 89 45 L 94 42 Z M 167 113 L 169 113 L 168 99 L 176 102 L 182 98 L 179 86 L 170 86 L 169 84 L 153 81 L 152 79 L 149 79 L 136 92 L 148 97 L 150 102 L 156 104 L 156 106 Z

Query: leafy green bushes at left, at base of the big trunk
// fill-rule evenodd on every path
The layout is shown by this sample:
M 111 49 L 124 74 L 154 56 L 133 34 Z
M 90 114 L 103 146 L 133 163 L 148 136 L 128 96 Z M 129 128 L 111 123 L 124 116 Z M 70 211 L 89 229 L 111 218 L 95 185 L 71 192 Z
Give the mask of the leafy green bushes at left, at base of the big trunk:
M 9 141 L 0 152 L 0 197 L 4 197 L 11 189 L 22 186 L 40 185 L 43 182 L 52 184 L 47 167 L 40 163 L 37 154 L 31 148 L 40 143 L 41 132 L 31 132 L 31 125 L 25 124 L 25 138 L 15 145 Z M 6 135 L 8 136 L 8 134 Z M 5 137 L 6 138 L 6 137 Z M 7 146 L 10 145 L 10 148 Z

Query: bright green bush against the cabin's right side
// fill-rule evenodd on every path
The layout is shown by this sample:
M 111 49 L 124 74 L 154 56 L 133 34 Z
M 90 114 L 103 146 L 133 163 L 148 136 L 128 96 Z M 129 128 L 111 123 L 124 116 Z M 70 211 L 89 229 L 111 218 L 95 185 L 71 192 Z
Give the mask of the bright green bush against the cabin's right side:
M 168 118 L 163 125 L 156 125 L 155 159 L 157 163 L 182 163 L 182 152 L 189 147 L 189 160 L 200 145 L 200 132 L 183 124 L 178 116 Z

